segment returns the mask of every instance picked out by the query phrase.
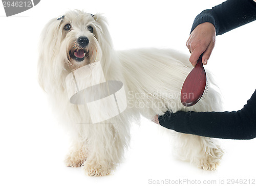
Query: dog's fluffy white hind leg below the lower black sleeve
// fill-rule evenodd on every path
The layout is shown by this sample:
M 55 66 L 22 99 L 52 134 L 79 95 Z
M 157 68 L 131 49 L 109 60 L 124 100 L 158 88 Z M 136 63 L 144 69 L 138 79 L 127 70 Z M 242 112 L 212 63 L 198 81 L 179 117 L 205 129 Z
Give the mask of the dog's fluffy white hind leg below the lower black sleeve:
M 204 170 L 216 170 L 224 151 L 214 139 L 187 134 L 176 134 L 175 153 L 183 161 Z

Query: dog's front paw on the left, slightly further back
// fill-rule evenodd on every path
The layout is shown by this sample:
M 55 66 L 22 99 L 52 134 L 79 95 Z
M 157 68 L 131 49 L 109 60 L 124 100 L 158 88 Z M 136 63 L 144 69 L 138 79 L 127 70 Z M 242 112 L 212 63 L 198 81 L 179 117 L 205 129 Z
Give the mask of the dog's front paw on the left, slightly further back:
M 70 151 L 65 158 L 66 166 L 81 167 L 86 161 L 86 153 L 83 151 Z

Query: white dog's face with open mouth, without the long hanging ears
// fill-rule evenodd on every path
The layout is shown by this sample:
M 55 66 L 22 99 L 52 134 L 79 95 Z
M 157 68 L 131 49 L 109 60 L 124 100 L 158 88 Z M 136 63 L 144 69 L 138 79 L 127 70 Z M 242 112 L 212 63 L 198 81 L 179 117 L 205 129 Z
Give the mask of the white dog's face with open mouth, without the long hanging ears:
M 60 48 L 63 49 L 61 52 L 65 52 L 71 68 L 76 69 L 99 60 L 98 36 L 102 28 L 97 18 L 93 14 L 72 11 L 56 19 L 59 23 L 56 34 L 61 39 Z

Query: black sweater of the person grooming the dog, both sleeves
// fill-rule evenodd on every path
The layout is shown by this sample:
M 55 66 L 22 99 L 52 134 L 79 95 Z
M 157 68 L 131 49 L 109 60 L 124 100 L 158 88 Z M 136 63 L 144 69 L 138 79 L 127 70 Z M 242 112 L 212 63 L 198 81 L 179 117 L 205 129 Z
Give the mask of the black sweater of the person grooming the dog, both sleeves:
M 211 10 L 204 10 L 195 19 L 198 24 L 211 22 L 217 35 L 256 20 L 253 0 L 228 0 Z M 166 112 L 158 117 L 160 125 L 185 134 L 223 139 L 256 137 L 256 90 L 240 111 L 233 112 Z

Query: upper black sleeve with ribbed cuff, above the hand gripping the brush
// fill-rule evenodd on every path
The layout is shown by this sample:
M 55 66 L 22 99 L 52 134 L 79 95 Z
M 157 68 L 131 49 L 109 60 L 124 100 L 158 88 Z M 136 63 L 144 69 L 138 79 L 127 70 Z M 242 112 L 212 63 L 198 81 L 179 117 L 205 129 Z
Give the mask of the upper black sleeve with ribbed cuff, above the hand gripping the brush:
M 201 12 L 194 20 L 191 32 L 197 25 L 210 22 L 214 24 L 216 34 L 221 35 L 254 20 L 256 20 L 256 3 L 253 0 L 227 0 L 210 10 Z

